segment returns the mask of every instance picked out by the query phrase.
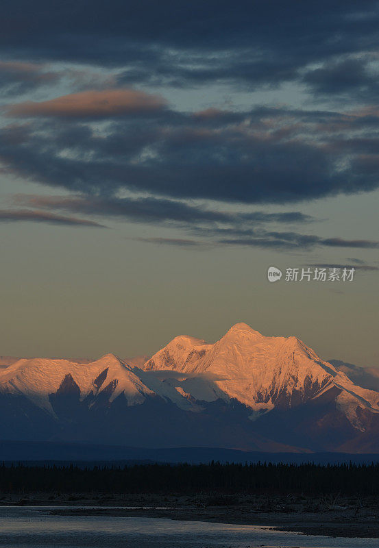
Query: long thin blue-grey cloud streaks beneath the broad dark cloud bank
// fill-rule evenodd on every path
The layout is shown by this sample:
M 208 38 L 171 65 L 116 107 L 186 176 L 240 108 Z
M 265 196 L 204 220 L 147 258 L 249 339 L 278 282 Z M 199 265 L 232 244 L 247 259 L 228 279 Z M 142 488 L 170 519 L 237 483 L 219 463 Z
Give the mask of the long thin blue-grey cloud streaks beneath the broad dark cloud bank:
M 352 247 L 377 249 L 379 242 L 373 240 L 347 240 L 344 238 L 322 238 L 315 234 L 273 231 L 267 229 L 270 223 L 282 225 L 313 221 L 310 216 L 299 212 L 265 213 L 226 212 L 201 206 L 189 205 L 184 201 L 148 198 L 107 197 L 59 197 L 16 195 L 16 203 L 47 210 L 60 210 L 110 219 L 122 219 L 137 223 L 161 225 L 180 229 L 193 238 L 135 238 L 141 242 L 156 242 L 182 247 L 204 245 L 226 245 L 236 247 L 259 247 L 262 249 L 310 250 L 317 247 Z

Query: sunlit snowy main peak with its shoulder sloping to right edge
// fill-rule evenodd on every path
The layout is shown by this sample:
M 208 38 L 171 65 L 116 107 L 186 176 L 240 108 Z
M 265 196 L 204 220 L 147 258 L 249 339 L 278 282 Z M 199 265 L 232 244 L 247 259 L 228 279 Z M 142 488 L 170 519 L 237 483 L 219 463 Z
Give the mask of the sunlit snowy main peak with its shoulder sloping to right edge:
M 337 407 L 358 429 L 357 408 L 379 412 L 379 394 L 356 386 L 323 362 L 297 337 L 266 337 L 237 323 L 214 345 L 191 337 L 175 337 L 143 367 L 145 371 L 187 374 L 177 390 L 187 398 L 236 399 L 252 409 L 251 419 L 279 405 L 295 406 L 316 399 L 333 386 L 341 390 Z

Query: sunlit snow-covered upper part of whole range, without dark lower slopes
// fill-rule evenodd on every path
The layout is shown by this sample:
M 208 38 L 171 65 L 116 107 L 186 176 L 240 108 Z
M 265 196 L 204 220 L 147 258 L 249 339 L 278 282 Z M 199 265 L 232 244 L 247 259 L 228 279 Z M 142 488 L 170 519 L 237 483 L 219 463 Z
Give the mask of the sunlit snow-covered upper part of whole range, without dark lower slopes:
M 80 401 L 90 397 L 88 405 L 100 396 L 109 405 L 123 396 L 127 406 L 158 397 L 196 413 L 217 400 L 236 401 L 247 408 L 251 421 L 274 408 L 332 398 L 360 432 L 367 412 L 379 413 L 379 393 L 354 384 L 301 340 L 263 336 L 245 323 L 214 344 L 175 337 L 142 366 L 110 353 L 90 363 L 34 358 L 0 369 L 0 394 L 22 395 L 51 414 L 51 395 L 63 389 L 80 390 Z

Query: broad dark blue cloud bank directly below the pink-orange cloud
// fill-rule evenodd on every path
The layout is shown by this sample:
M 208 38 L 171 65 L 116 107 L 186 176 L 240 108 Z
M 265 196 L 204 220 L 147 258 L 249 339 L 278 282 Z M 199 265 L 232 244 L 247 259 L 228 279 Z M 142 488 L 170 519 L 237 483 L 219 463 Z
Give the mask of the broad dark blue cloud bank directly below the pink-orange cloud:
M 109 98 L 107 109 L 110 103 Z M 154 108 L 143 114 L 131 110 L 101 132 L 84 123 L 85 108 L 81 104 L 71 122 L 45 121 L 45 112 L 32 125 L 0 129 L 3 169 L 93 195 L 127 189 L 242 203 L 296 202 L 379 186 L 376 149 L 362 153 L 364 142 L 359 146 L 367 132 L 371 138 L 378 134 L 374 111 L 183 114 Z

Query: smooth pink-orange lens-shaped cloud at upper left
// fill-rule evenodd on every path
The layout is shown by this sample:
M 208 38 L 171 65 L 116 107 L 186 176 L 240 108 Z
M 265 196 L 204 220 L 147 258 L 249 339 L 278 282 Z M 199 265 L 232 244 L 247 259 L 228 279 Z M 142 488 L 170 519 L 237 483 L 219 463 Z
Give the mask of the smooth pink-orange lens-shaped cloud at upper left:
M 40 103 L 26 101 L 11 105 L 8 116 L 58 116 L 70 118 L 107 118 L 118 114 L 136 114 L 160 110 L 162 97 L 143 91 L 114 89 L 89 90 L 56 97 Z

